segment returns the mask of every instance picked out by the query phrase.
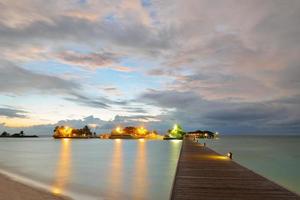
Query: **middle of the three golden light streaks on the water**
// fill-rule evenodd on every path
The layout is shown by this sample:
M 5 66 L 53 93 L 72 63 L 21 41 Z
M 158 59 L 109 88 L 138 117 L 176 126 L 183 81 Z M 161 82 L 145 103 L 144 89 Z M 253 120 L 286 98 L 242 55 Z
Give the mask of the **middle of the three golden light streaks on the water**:
M 122 141 L 121 139 L 114 140 L 114 150 L 112 154 L 112 161 L 110 167 L 110 195 L 112 199 L 120 199 L 123 181 L 123 154 L 122 154 Z

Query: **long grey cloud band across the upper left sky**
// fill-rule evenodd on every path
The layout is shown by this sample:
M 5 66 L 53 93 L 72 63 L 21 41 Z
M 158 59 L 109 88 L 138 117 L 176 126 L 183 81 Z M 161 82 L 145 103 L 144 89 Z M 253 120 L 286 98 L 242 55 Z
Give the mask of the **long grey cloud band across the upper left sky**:
M 101 45 L 121 52 L 158 54 L 167 48 L 168 35 L 146 26 L 135 16 L 125 15 L 116 20 L 99 19 L 89 21 L 83 18 L 58 16 L 45 21 L 33 21 L 24 27 L 7 27 L 0 24 L 2 47 L 15 47 L 19 44 L 64 44 Z M 55 44 L 55 45 L 53 45 Z

